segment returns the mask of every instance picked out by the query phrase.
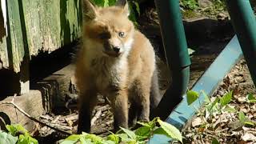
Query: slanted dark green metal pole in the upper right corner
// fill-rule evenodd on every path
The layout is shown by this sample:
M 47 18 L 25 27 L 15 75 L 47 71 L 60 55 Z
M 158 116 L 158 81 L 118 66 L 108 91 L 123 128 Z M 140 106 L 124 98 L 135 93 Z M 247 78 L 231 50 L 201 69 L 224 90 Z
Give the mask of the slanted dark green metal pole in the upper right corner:
M 226 0 L 226 6 L 256 86 L 256 20 L 250 0 Z

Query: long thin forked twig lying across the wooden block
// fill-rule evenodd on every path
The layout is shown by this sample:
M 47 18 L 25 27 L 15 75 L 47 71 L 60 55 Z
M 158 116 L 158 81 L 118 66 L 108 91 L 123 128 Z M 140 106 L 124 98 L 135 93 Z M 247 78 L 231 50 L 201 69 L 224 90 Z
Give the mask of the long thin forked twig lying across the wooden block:
M 14 95 L 14 97 L 15 97 L 15 95 Z M 30 118 L 34 122 L 38 122 L 38 123 L 42 124 L 43 126 L 50 127 L 50 129 L 56 130 L 58 132 L 61 132 L 62 134 L 68 134 L 68 135 L 71 134 L 69 132 L 66 132 L 64 130 L 59 130 L 58 128 L 56 128 L 54 126 L 50 126 L 49 124 L 46 124 L 45 122 L 41 122 L 38 119 L 31 117 L 30 114 L 27 114 L 24 110 L 22 110 L 19 106 L 17 106 L 14 103 L 14 98 L 12 99 L 11 102 L 0 102 L 0 105 L 11 105 L 11 106 L 14 106 L 14 108 L 16 108 L 18 111 L 20 111 L 22 114 L 24 114 L 27 118 Z

